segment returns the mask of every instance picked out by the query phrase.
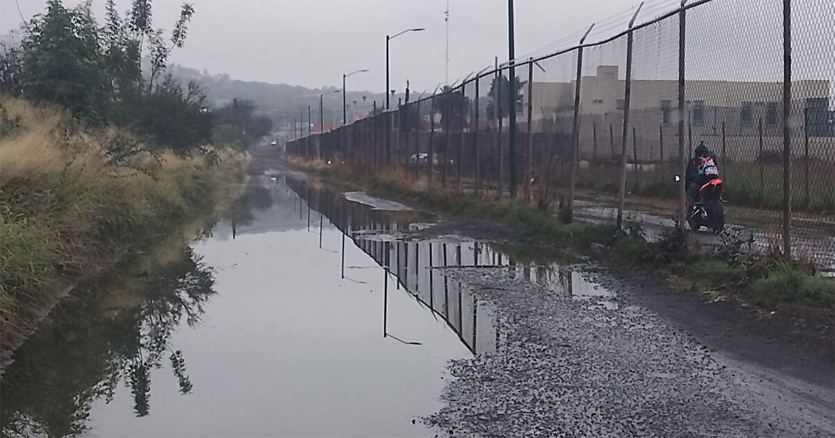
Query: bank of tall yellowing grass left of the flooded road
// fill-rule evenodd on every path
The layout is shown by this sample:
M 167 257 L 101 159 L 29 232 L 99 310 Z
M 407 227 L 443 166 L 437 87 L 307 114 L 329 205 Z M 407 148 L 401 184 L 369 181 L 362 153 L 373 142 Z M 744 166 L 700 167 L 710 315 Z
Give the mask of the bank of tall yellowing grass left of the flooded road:
M 180 157 L 114 128 L 88 132 L 54 107 L 3 99 L 0 123 L 3 345 L 79 279 L 195 237 L 245 179 L 244 154 Z

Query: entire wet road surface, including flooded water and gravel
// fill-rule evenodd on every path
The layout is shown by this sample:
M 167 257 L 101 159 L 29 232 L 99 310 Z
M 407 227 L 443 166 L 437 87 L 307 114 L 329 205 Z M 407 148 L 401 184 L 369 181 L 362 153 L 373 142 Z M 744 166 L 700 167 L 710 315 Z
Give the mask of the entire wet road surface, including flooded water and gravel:
M 53 310 L 0 382 L 3 435 L 835 434 L 825 333 L 759 345 L 751 320 L 736 345 L 726 306 L 257 173 L 190 248 Z

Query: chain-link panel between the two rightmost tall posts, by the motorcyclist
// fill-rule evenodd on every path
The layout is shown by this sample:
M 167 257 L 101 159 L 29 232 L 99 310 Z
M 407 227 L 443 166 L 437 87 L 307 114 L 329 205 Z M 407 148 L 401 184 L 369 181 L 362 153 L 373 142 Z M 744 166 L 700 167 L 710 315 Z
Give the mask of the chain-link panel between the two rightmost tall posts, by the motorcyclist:
M 715 0 L 686 15 L 687 155 L 709 149 L 726 220 L 763 229 L 761 245 L 781 236 L 782 39 L 781 2 Z M 688 179 L 694 202 L 704 180 Z

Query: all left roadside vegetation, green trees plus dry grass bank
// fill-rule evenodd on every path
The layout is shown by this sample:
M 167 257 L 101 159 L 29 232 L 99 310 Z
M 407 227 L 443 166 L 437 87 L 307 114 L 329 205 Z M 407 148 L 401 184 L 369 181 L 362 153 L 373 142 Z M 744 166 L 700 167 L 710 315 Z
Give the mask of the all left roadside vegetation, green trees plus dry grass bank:
M 51 0 L 20 45 L 0 51 L 7 353 L 78 281 L 211 224 L 242 190 L 242 151 L 271 128 L 251 106 L 230 104 L 215 118 L 199 84 L 166 73 L 190 4 L 169 36 L 152 27 L 150 0 L 133 0 L 124 14 L 113 0 L 106 7 L 100 25 L 89 2 Z

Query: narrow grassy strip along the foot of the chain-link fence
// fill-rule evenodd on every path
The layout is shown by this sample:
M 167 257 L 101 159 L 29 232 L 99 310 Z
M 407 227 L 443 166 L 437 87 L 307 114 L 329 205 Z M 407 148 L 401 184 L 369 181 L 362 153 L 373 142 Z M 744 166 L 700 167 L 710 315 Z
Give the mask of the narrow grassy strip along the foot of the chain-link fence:
M 816 274 L 811 264 L 787 261 L 779 254 L 748 256 L 733 248 L 733 244 L 703 254 L 688 250 L 684 239 L 675 232 L 650 243 L 636 229 L 622 233 L 604 225 L 564 224 L 552 214 L 516 200 L 463 195 L 438 187 L 428 190 L 403 171 L 375 175 L 354 172 L 347 166 L 329 166 L 321 160 L 291 158 L 290 163 L 344 184 L 412 199 L 428 209 L 497 220 L 523 229 L 544 245 L 585 250 L 591 244 L 605 244 L 609 248 L 605 259 L 611 264 L 652 270 L 664 274 L 674 284 L 715 291 L 752 305 L 769 309 L 789 305 L 828 312 L 835 306 L 835 281 Z

